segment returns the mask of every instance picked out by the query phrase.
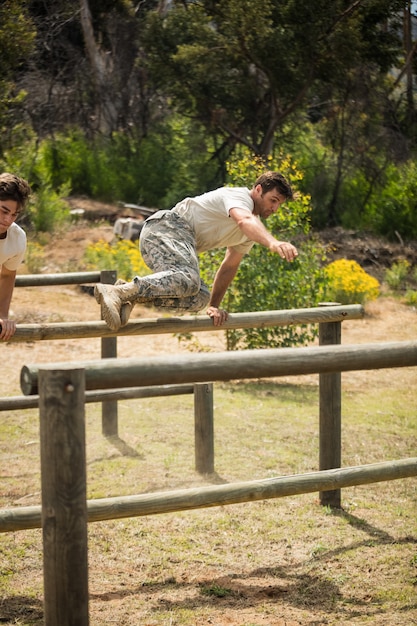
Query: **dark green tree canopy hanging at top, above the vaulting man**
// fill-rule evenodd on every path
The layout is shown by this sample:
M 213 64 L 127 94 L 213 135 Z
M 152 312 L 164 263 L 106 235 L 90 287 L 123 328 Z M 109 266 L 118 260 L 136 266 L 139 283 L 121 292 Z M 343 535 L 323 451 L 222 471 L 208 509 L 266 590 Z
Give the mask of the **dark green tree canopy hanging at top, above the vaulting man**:
M 315 100 L 321 114 L 321 94 L 337 94 L 355 68 L 378 73 L 396 63 L 393 12 L 400 4 L 177 2 L 147 16 L 147 66 L 177 110 L 221 134 L 225 145 L 266 156 L 295 112 Z

